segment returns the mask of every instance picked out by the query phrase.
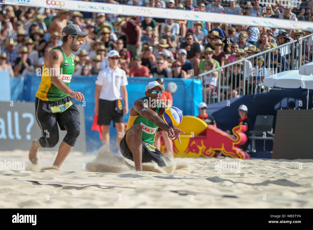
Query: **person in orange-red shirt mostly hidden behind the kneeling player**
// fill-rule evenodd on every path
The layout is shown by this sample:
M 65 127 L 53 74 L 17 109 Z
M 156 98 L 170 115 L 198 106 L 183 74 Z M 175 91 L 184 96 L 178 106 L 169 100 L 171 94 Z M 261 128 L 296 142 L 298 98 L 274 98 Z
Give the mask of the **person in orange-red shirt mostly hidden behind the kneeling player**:
M 156 81 L 164 86 L 164 79 L 163 78 L 158 78 L 156 79 Z M 165 105 L 167 105 L 167 107 L 171 107 L 173 105 L 173 97 L 172 94 L 170 92 L 167 91 L 163 91 L 162 95 L 161 95 L 161 102 Z M 165 143 L 165 147 L 167 148 L 167 151 L 171 152 L 171 157 L 174 157 L 174 149 L 173 149 L 173 142 L 171 141 L 171 139 L 168 137 L 167 132 L 164 130 L 161 130 L 160 128 L 158 128 L 158 130 L 156 131 L 156 136 L 154 138 L 154 143 L 153 145 L 157 148 L 157 149 L 161 149 L 161 135 L 163 137 L 164 143 Z

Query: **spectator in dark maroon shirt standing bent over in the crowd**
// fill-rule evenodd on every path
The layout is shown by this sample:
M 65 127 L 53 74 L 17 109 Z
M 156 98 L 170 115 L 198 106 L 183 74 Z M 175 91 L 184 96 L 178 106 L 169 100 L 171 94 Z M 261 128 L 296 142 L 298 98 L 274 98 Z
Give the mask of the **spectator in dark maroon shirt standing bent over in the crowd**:
M 121 30 L 126 34 L 126 48 L 131 53 L 131 57 L 138 56 L 141 53 L 142 42 L 141 42 L 141 28 L 130 21 L 131 17 L 126 16 L 125 21 L 121 18 L 116 18 L 114 21 L 114 26 L 121 28 Z

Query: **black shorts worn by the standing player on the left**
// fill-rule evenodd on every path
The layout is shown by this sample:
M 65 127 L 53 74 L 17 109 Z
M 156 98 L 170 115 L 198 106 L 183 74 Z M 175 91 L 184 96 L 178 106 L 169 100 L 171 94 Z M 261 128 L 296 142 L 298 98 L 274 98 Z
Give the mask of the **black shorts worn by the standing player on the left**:
M 65 130 L 64 124 L 69 121 L 80 123 L 79 111 L 74 103 L 70 96 L 59 101 L 43 101 L 36 97 L 36 120 L 42 130 L 42 135 L 44 135 L 45 130 L 50 130 L 50 135 L 53 134 L 52 132 L 58 132 L 57 123 L 59 123 L 61 130 Z

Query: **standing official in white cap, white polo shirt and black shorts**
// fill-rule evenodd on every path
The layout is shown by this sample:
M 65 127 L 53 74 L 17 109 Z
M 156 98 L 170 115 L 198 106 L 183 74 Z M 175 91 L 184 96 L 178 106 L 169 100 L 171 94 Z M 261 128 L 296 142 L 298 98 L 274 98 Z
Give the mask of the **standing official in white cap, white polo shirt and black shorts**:
M 128 85 L 126 73 L 123 69 L 117 67 L 121 57 L 116 50 L 108 53 L 109 66 L 100 70 L 95 89 L 95 113 L 98 115 L 98 125 L 102 126 L 102 142 L 109 150 L 110 142 L 110 122 L 113 120 L 117 135 L 116 142 L 118 146 L 117 155 L 121 156 L 120 141 L 124 136 L 124 116 L 128 113 L 128 96 L 126 85 Z M 122 101 L 124 100 L 124 109 Z

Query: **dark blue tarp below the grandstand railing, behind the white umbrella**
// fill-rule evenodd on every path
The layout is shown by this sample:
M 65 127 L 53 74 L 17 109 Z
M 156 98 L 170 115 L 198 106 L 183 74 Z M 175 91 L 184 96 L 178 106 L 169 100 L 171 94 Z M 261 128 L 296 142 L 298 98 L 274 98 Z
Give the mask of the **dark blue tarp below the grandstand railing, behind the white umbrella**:
M 307 89 L 282 89 L 263 94 L 245 95 L 239 98 L 229 99 L 208 105 L 207 113 L 213 115 L 217 127 L 222 130 L 232 130 L 239 124 L 238 108 L 240 105 L 248 107 L 248 117 L 251 120 L 250 130 L 254 129 L 254 123 L 257 115 L 274 115 L 273 133 L 275 133 L 277 110 L 287 109 L 288 102 L 294 100 L 296 109 L 306 109 Z M 313 107 L 313 90 L 309 91 L 309 109 Z M 299 101 L 302 106 L 299 106 Z M 229 105 L 229 106 L 228 106 Z M 286 124 L 288 125 L 288 124 Z M 263 141 L 255 141 L 257 150 L 263 150 Z M 266 141 L 266 151 L 272 151 L 273 142 Z

